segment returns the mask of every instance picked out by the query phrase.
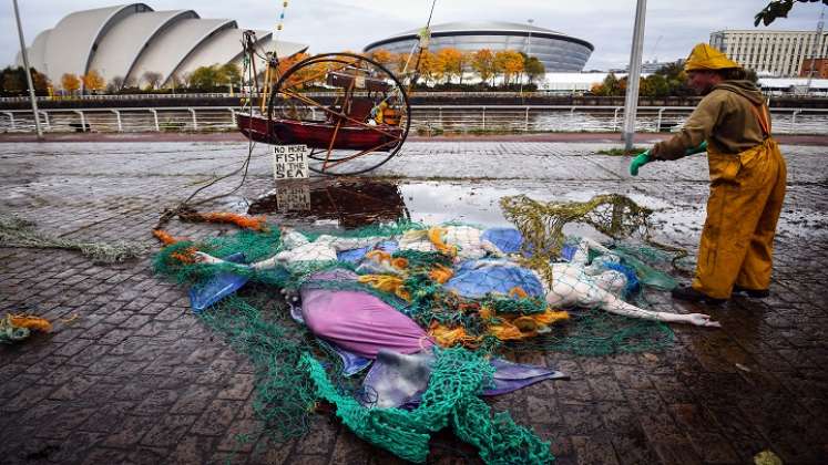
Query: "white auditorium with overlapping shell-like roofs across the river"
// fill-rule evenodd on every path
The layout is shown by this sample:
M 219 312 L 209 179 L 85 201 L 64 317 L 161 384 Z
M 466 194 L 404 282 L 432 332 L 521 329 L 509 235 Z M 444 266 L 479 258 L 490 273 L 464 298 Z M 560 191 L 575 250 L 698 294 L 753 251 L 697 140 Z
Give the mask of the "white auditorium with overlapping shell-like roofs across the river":
M 274 44 L 272 32 L 255 32 L 256 48 L 276 50 L 279 56 L 307 49 L 293 42 Z M 164 85 L 198 66 L 241 63 L 242 33 L 233 20 L 132 3 L 71 13 L 39 33 L 27 50 L 29 64 L 55 86 L 65 73 L 81 76 L 92 70 L 106 82 L 119 78 L 134 85 L 141 85 L 147 72 L 159 73 Z M 22 65 L 19 53 L 17 62 Z

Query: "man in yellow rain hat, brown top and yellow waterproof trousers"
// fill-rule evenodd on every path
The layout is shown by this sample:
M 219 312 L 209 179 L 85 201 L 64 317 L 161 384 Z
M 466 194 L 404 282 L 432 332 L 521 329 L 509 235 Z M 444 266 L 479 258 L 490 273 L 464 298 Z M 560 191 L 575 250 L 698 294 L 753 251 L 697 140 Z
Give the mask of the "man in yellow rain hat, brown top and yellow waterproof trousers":
M 706 43 L 693 49 L 684 69 L 705 97 L 678 134 L 630 166 L 635 175 L 653 159 L 678 159 L 706 143 L 711 196 L 696 276 L 691 287 L 674 289 L 673 298 L 722 303 L 732 292 L 767 297 L 787 169 L 770 135 L 765 99 L 738 63 Z

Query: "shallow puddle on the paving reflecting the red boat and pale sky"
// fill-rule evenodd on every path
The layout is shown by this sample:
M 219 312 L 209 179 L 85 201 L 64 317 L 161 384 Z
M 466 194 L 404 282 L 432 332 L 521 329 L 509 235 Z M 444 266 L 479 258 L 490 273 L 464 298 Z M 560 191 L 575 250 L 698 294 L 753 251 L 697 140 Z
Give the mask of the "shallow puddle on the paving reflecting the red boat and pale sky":
M 401 219 L 428 225 L 457 221 L 480 227 L 511 227 L 513 225 L 500 208 L 500 199 L 520 194 L 539 202 L 589 202 L 607 193 L 584 189 L 561 194 L 542 186 L 522 188 L 446 182 L 311 178 L 283 182 L 266 195 L 255 200 L 238 202 L 235 206 L 252 215 L 276 216 L 277 221 L 325 227 L 356 228 Z M 656 240 L 683 247 L 698 242 L 705 220 L 704 203 L 669 204 L 640 193 L 631 193 L 628 197 L 637 205 L 654 210 L 650 217 L 650 231 Z M 826 226 L 826 214 L 784 211 L 778 234 L 793 237 L 824 235 Z M 597 240 L 609 239 L 584 224 L 568 224 L 563 231 L 565 235 Z

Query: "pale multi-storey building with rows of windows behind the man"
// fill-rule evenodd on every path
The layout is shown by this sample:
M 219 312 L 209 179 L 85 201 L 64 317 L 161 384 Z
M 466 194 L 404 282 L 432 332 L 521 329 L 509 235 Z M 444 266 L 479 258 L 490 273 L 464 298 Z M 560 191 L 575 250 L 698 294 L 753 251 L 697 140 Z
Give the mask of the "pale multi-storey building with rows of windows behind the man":
M 828 56 L 828 32 L 818 38 L 815 31 L 716 31 L 711 33 L 711 45 L 757 73 L 787 78 L 798 75 L 811 53 Z

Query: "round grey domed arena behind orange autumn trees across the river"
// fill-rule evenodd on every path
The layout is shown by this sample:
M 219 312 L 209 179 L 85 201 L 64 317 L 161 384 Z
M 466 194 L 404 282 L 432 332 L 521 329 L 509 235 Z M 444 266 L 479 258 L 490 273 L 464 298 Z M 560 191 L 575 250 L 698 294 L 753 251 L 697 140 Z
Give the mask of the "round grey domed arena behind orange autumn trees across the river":
M 368 44 L 366 53 L 385 49 L 391 53 L 409 53 L 418 40 L 419 30 L 411 30 Z M 562 32 L 512 22 L 449 22 L 431 27 L 429 50 L 454 48 L 477 51 L 489 49 L 517 50 L 535 56 L 546 72 L 580 72 L 595 48 L 583 39 Z

